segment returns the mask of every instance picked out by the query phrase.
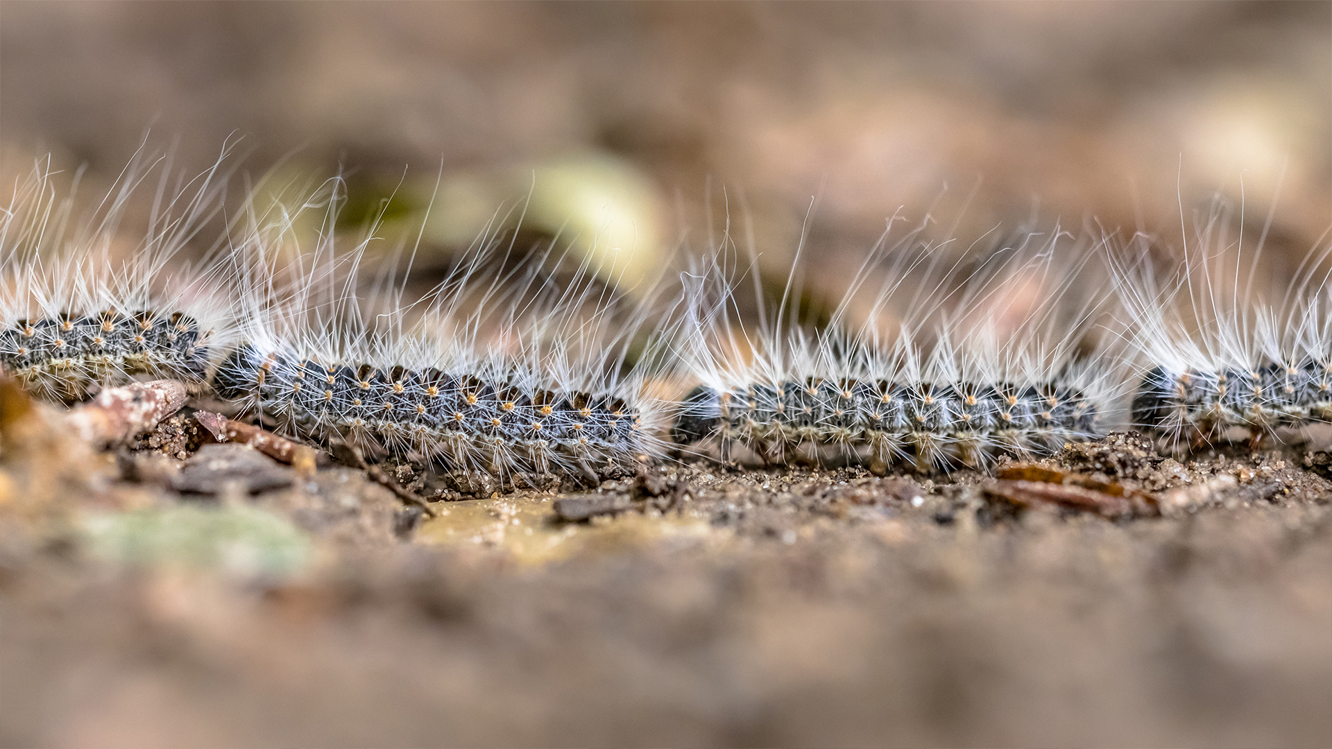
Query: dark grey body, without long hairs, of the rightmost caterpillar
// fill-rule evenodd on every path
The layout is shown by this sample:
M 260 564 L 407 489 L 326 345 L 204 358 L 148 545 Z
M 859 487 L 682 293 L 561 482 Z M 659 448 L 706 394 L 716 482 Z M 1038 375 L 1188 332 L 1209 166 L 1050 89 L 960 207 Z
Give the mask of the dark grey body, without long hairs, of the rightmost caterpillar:
M 1134 424 L 1176 442 L 1217 440 L 1229 429 L 1255 441 L 1280 428 L 1332 421 L 1332 356 L 1252 368 L 1152 368 L 1134 396 Z

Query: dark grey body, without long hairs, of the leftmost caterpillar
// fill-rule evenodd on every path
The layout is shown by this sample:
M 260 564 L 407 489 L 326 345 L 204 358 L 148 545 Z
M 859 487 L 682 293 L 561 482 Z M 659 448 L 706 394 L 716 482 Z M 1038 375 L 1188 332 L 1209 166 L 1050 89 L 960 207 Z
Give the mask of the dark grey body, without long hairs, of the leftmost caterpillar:
M 0 331 L 0 367 L 40 397 L 77 401 L 93 385 L 136 374 L 201 384 L 208 376 L 208 339 L 209 332 L 181 312 L 19 320 Z

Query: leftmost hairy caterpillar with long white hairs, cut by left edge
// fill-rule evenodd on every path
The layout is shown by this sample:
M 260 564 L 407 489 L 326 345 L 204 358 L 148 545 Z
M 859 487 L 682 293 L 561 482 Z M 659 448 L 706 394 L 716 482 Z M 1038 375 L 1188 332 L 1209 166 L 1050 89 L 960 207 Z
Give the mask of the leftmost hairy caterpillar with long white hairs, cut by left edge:
M 201 385 L 232 327 L 229 304 L 214 291 L 224 269 L 206 259 L 166 269 L 220 215 L 229 151 L 184 180 L 169 157 L 140 149 L 99 209 L 81 219 L 76 191 L 57 199 L 57 172 L 39 161 L 0 209 L 0 368 L 60 401 L 135 376 Z M 155 172 L 147 231 L 124 244 L 131 197 Z

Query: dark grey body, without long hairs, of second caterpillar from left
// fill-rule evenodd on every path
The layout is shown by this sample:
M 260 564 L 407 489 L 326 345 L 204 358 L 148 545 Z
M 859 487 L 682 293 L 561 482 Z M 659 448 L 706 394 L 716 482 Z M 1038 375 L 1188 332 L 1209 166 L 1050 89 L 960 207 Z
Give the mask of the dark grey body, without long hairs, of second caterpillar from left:
M 650 452 L 641 413 L 625 398 L 526 380 L 324 365 L 242 345 L 218 367 L 214 388 L 301 437 L 341 438 L 501 478 L 605 476 Z

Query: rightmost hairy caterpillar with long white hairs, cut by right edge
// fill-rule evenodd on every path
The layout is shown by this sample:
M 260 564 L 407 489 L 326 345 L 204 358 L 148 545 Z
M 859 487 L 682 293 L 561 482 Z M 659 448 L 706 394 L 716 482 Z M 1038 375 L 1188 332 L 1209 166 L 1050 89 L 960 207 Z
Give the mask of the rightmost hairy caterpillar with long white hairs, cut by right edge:
M 1127 255 L 1115 263 L 1115 288 L 1138 360 L 1132 420 L 1176 452 L 1228 432 L 1256 446 L 1332 421 L 1332 297 L 1323 268 L 1332 245 L 1311 248 L 1295 281 L 1268 301 L 1256 276 L 1272 217 L 1255 247 L 1244 244 L 1241 216 L 1232 231 L 1235 219 L 1213 201 L 1192 247 L 1185 237 L 1183 259 L 1164 273 L 1146 235 L 1115 243 Z

